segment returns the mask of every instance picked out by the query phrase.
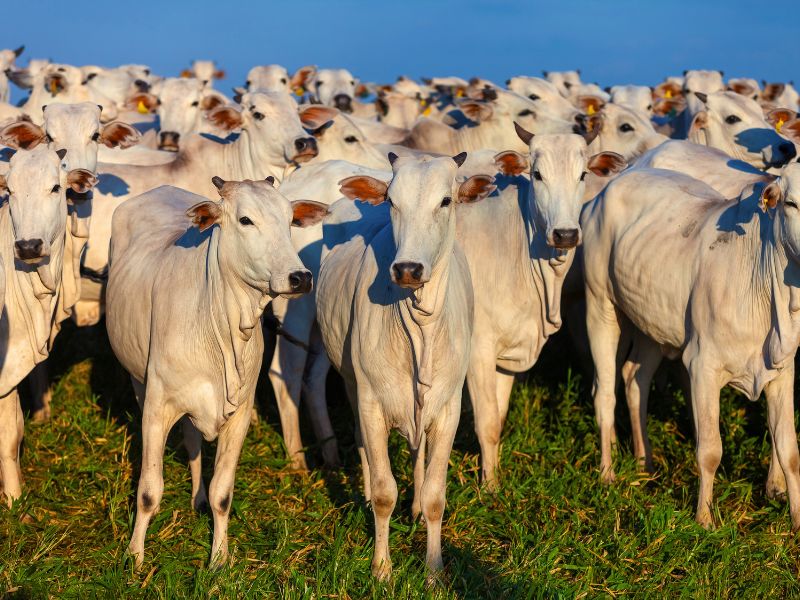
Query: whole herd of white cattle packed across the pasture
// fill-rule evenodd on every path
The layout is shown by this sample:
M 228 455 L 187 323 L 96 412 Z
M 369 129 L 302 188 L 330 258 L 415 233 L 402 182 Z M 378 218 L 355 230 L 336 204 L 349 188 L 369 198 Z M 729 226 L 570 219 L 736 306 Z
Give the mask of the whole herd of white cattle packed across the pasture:
M 389 431 L 408 439 L 426 564 L 442 568 L 447 466 L 466 380 L 482 479 L 514 374 L 562 324 L 595 365 L 600 474 L 614 480 L 621 381 L 633 446 L 652 468 L 647 398 L 662 356 L 688 370 L 712 524 L 719 393 L 764 391 L 772 461 L 800 527 L 794 355 L 800 343 L 798 93 L 718 71 L 601 89 L 577 71 L 359 83 L 344 69 L 254 67 L 228 97 L 196 61 L 75 67 L 0 52 L 0 474 L 22 492 L 23 416 L 46 419 L 46 359 L 61 323 L 103 314 L 142 408 L 130 551 L 140 564 L 181 422 L 192 501 L 227 560 L 234 474 L 264 336 L 283 436 L 306 467 L 306 403 L 325 463 L 331 364 L 356 422 L 375 515 L 376 577 L 391 573 L 397 500 Z M 10 83 L 29 90 L 8 103 Z M 367 101 L 369 99 L 369 101 Z M 291 229 L 290 226 L 296 227 Z M 573 264 L 577 263 L 577 264 Z M 312 281 L 316 290 L 312 292 Z M 265 310 L 271 304 L 265 315 Z M 263 318 L 262 318 L 263 317 Z M 581 325 L 585 323 L 585 327 Z M 201 436 L 218 438 L 208 491 Z

